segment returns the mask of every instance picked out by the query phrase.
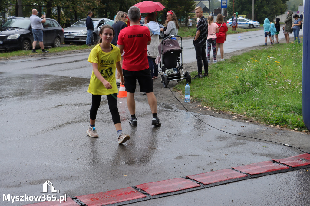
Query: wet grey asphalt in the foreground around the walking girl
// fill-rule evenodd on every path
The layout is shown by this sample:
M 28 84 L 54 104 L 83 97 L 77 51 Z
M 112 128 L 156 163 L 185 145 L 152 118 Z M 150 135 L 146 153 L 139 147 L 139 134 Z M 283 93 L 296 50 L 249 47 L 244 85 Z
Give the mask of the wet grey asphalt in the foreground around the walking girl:
M 280 144 L 215 130 L 165 102 L 158 105 L 162 127 L 151 125 L 149 106 L 141 102 L 136 102 L 138 127 L 131 127 L 126 98 L 118 99 L 118 108 L 131 139 L 117 144 L 105 97 L 96 119 L 99 138 L 90 138 L 87 57 L 44 55 L 0 62 L 1 194 L 41 195 L 42 184 L 50 180 L 59 195 L 73 197 L 299 154 Z M 309 135 L 300 132 L 197 116 L 219 130 L 310 151 Z M 309 183 L 303 169 L 134 205 L 310 205 Z M 31 203 L 1 200 L 0 205 Z

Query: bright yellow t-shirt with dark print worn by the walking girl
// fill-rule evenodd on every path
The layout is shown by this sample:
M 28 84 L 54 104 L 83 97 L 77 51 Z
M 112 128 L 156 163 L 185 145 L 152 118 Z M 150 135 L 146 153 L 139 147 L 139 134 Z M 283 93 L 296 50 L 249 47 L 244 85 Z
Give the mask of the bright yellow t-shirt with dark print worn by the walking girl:
M 112 44 L 111 44 L 112 45 Z M 91 94 L 114 94 L 117 93 L 117 86 L 115 80 L 116 62 L 121 61 L 121 52 L 117 46 L 112 45 L 110 52 L 102 51 L 100 44 L 91 49 L 88 60 L 89 62 L 98 63 L 98 71 L 111 85 L 112 89 L 107 89 L 102 82 L 96 77 L 94 71 L 91 74 L 87 92 Z

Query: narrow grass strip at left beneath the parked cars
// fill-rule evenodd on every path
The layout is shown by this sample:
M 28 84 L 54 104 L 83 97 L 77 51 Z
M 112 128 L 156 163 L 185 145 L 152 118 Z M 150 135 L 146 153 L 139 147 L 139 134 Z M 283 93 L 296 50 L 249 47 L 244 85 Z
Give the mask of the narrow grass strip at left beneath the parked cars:
M 72 51 L 72 50 L 80 50 L 80 49 L 90 49 L 92 47 L 89 47 L 85 44 L 83 45 L 70 45 L 70 46 L 64 46 L 64 47 L 57 47 L 57 48 L 50 48 L 47 49 L 50 51 L 50 53 L 53 52 L 64 52 L 64 51 Z M 35 56 L 35 55 L 40 55 L 41 54 L 41 49 L 37 49 L 38 53 L 32 53 L 31 50 L 29 51 L 24 51 L 24 50 L 17 50 L 17 51 L 7 51 L 7 52 L 1 52 L 0 53 L 0 59 L 5 59 L 5 58 L 10 58 L 14 56 L 24 56 L 24 55 L 29 55 L 29 56 Z

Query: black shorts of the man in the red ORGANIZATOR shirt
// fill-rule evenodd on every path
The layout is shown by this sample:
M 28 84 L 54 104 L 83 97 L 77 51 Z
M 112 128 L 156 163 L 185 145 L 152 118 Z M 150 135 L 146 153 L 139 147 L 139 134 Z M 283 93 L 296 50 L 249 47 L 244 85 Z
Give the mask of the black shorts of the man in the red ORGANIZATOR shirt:
M 141 71 L 128 71 L 123 69 L 126 92 L 135 93 L 135 87 L 140 85 L 140 92 L 153 92 L 153 79 L 149 68 Z

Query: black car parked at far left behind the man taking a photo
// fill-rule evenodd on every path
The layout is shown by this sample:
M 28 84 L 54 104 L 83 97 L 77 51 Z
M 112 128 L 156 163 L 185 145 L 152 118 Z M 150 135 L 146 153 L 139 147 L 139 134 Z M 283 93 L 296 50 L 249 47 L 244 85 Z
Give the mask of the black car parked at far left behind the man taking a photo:
M 43 24 L 44 46 L 59 47 L 64 41 L 64 30 L 55 19 L 46 19 Z M 33 35 L 30 19 L 13 17 L 0 27 L 0 49 L 32 49 Z M 39 47 L 39 41 L 37 41 Z

